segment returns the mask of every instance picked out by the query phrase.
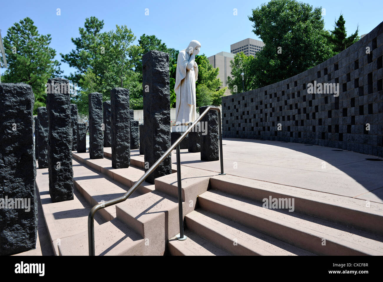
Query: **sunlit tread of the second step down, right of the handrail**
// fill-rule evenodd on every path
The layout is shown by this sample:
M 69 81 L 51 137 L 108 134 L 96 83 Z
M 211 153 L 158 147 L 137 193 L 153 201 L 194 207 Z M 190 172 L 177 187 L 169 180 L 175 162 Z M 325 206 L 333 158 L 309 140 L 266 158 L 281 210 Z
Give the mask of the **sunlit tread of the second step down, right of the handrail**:
M 325 238 L 361 252 L 373 255 L 383 254 L 383 238 L 379 235 L 340 226 L 339 224 L 299 213 L 263 208 L 262 203 L 218 190 L 206 191 L 199 198 L 241 211 L 249 216 L 298 229 L 304 233 L 313 234 L 316 237 Z M 232 219 L 234 220 L 234 218 Z

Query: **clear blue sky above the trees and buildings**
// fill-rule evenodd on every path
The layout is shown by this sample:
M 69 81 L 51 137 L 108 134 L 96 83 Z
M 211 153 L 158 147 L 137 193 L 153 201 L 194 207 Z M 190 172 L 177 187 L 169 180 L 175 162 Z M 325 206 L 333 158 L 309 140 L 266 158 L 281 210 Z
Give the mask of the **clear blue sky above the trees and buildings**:
M 0 29 L 2 36 L 15 22 L 29 16 L 40 34 L 51 34 L 51 47 L 59 53 L 69 53 L 74 48 L 71 37 L 79 36 L 85 18 L 96 16 L 104 20 L 103 31 L 127 25 L 137 39 L 142 34 L 155 35 L 168 47 L 185 49 L 195 39 L 201 43 L 201 54 L 211 56 L 221 51 L 230 52 L 230 44 L 245 38 L 259 39 L 252 32 L 248 16 L 252 9 L 267 1 L 115 1 L 115 0 L 4 0 L 1 3 Z M 314 7 L 326 9 L 325 28 L 332 30 L 334 20 L 342 13 L 350 35 L 359 24 L 359 35 L 370 32 L 383 20 L 383 1 L 361 0 L 305 0 Z M 56 15 L 56 9 L 61 15 Z M 149 16 L 145 9 L 149 9 Z M 237 9 L 237 16 L 233 9 Z M 137 40 L 135 42 L 138 43 Z M 73 72 L 68 64 L 61 63 L 64 74 Z M 2 68 L 2 73 L 5 71 Z

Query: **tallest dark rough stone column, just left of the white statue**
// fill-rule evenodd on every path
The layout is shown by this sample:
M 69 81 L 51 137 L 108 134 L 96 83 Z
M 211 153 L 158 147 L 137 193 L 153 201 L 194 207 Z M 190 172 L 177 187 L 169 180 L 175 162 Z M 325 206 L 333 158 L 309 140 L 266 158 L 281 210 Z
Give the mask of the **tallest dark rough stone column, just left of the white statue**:
M 169 54 L 149 51 L 142 56 L 142 88 L 144 160 L 151 167 L 170 147 Z M 170 173 L 172 173 L 171 155 L 165 158 L 146 181 L 154 184 L 154 178 Z

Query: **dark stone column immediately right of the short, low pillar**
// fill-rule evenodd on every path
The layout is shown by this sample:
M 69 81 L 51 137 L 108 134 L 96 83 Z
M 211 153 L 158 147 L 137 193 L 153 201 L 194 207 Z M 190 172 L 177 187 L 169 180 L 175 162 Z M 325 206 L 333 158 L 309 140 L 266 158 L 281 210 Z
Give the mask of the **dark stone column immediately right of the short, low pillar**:
M 92 159 L 104 157 L 102 94 L 89 94 L 89 156 Z

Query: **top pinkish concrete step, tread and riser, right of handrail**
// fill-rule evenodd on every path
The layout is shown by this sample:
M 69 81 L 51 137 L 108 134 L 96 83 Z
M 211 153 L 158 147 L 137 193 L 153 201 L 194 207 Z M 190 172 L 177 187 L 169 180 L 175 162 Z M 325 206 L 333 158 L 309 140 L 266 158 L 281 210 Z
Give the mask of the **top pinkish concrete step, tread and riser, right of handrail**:
M 272 198 L 293 198 L 295 212 L 344 226 L 383 235 L 383 204 L 292 186 L 241 178 L 213 176 L 210 187 L 258 202 Z

